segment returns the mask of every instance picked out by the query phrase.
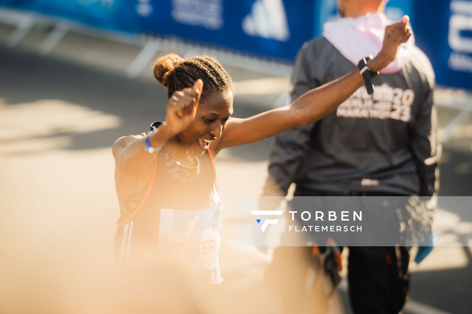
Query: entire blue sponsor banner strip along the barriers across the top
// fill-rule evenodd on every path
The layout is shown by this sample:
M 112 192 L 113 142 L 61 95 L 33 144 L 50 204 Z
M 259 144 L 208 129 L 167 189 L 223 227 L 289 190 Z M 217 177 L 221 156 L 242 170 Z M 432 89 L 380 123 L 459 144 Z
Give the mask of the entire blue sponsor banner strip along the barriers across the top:
M 0 5 L 123 32 L 176 36 L 291 62 L 337 16 L 337 0 L 0 0 Z M 411 16 L 436 81 L 472 89 L 472 0 L 390 0 L 393 21 Z

